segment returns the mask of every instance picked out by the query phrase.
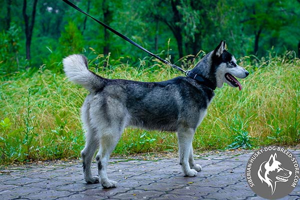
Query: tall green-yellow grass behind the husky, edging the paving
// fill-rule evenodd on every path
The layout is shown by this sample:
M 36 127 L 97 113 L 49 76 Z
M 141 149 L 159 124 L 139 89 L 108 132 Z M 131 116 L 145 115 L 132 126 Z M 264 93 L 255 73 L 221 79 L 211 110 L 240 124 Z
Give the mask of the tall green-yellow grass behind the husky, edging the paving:
M 180 72 L 149 58 L 139 66 L 110 60 L 103 70 L 97 56 L 92 70 L 107 78 L 160 81 Z M 224 85 L 215 90 L 207 115 L 193 140 L 196 150 L 295 145 L 300 142 L 300 60 L 270 57 L 240 59 L 250 71 L 242 91 Z M 98 63 L 98 65 L 94 65 Z M 61 65 L 60 65 L 61 67 Z M 0 161 L 77 158 L 84 145 L 80 106 L 87 90 L 63 73 L 40 68 L 5 77 L 0 82 Z M 175 133 L 127 128 L 114 154 L 177 150 Z

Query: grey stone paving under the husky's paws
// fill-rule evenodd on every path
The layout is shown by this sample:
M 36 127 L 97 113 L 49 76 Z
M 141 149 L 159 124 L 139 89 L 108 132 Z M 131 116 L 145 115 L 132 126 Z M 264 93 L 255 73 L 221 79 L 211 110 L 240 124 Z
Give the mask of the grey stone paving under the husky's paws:
M 300 150 L 291 152 L 299 160 Z M 0 170 L 0 199 L 261 199 L 245 180 L 250 156 L 198 157 L 195 177 L 183 177 L 177 158 L 111 159 L 108 177 L 118 182 L 112 189 L 86 184 L 79 160 L 26 164 Z M 300 185 L 282 199 L 300 199 Z

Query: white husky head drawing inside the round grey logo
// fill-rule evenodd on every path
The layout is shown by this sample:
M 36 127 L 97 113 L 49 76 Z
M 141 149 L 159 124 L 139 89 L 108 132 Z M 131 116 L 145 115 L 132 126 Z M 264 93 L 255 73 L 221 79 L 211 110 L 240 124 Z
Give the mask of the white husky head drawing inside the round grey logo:
M 267 161 L 260 164 L 257 175 L 261 182 L 265 182 L 271 187 L 271 195 L 276 189 L 277 182 L 286 182 L 291 175 L 291 171 L 283 168 L 282 163 L 277 160 L 277 154 L 271 154 Z

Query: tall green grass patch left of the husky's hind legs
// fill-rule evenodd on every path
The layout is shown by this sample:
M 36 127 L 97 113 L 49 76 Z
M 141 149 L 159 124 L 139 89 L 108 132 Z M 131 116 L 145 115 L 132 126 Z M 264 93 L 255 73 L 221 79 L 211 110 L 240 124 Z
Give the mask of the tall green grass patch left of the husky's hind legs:
M 65 77 L 48 70 L 28 70 L 11 78 L 0 84 L 0 162 L 78 157 L 84 144 L 83 131 L 71 128 L 69 122 L 77 120 L 80 124 L 79 118 L 71 112 L 65 116 L 63 110 L 74 107 L 74 103 L 79 107 L 85 92 L 69 97 Z

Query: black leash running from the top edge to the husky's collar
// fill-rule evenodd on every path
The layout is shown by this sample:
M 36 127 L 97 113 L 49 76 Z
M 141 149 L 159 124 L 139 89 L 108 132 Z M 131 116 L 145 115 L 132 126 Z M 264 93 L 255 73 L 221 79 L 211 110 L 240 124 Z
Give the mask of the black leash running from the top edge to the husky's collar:
M 216 88 L 216 86 L 207 78 L 202 77 L 196 73 L 191 72 L 190 70 L 184 70 L 182 68 L 180 68 L 179 66 L 175 65 L 175 64 L 171 64 L 168 61 L 166 61 L 165 59 L 162 59 L 161 57 L 159 57 L 158 55 L 155 55 L 154 53 L 150 52 L 149 50 L 145 49 L 144 47 L 142 47 L 141 45 L 135 43 L 134 41 L 132 41 L 131 39 L 129 39 L 128 37 L 126 37 L 125 35 L 123 35 L 122 33 L 116 31 L 115 29 L 111 28 L 110 26 L 106 25 L 105 23 L 103 23 L 102 21 L 99 21 L 98 19 L 94 18 L 93 16 L 89 15 L 88 13 L 86 13 L 85 11 L 83 11 L 82 9 L 80 9 L 79 7 L 77 7 L 74 3 L 70 2 L 69 0 L 62 0 L 63 2 L 65 2 L 66 4 L 68 4 L 69 6 L 73 7 L 74 9 L 78 10 L 79 12 L 85 14 L 86 16 L 89 16 L 90 18 L 92 18 L 93 20 L 95 20 L 96 22 L 98 22 L 99 24 L 101 24 L 102 26 L 104 26 L 105 28 L 107 28 L 108 30 L 110 30 L 111 32 L 113 32 L 114 34 L 118 35 L 119 37 L 125 39 L 126 41 L 128 41 L 129 43 L 133 44 L 134 46 L 140 48 L 141 50 L 149 53 L 151 56 L 155 57 L 156 59 L 160 60 L 161 62 L 179 70 L 185 73 L 185 75 L 187 77 L 193 78 L 195 80 L 197 80 L 198 82 L 208 86 L 209 88 L 211 88 L 212 90 L 214 90 Z

